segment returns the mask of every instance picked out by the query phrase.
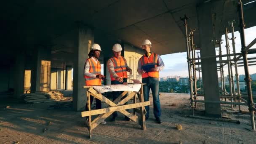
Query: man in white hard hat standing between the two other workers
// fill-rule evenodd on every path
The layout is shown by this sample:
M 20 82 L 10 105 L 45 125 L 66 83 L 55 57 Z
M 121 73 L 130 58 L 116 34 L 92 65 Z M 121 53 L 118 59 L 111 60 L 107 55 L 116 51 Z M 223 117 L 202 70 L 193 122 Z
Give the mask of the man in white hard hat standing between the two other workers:
M 132 70 L 130 67 L 128 67 L 126 59 L 121 56 L 121 51 L 123 50 L 122 46 L 118 43 L 113 45 L 112 51 L 114 53 L 114 56 L 112 56 L 107 61 L 107 68 L 110 73 L 111 77 L 111 84 L 127 84 L 127 72 L 130 72 L 130 75 L 132 74 Z M 123 91 L 114 91 L 112 92 L 113 95 L 113 101 L 121 94 Z M 125 103 L 127 104 L 127 103 Z M 114 112 L 112 114 L 111 121 L 115 121 L 117 117 L 117 112 Z M 125 120 L 129 121 L 130 119 L 125 116 Z

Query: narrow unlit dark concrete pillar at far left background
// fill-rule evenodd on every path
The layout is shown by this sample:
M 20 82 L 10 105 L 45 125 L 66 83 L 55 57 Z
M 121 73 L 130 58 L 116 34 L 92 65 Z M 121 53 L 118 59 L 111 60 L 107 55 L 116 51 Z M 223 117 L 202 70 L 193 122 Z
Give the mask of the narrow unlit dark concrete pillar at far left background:
M 21 99 L 24 92 L 25 53 L 17 53 L 14 67 L 14 97 Z

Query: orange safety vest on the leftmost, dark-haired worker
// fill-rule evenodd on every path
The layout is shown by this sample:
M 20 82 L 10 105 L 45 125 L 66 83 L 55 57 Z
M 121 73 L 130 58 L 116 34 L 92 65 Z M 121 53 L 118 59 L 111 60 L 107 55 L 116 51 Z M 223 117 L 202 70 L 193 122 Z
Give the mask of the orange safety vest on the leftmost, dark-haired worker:
M 89 72 L 94 74 L 94 75 L 98 75 L 101 74 L 101 64 L 99 63 L 99 61 L 96 62 L 93 61 L 93 59 L 88 58 L 86 59 L 86 61 L 89 62 L 90 64 L 90 68 L 89 68 Z M 86 63 L 85 61 L 85 63 Z M 88 77 L 88 76 L 84 76 L 85 77 L 85 85 L 89 86 L 89 85 L 101 85 L 101 79 L 96 78 L 96 77 Z

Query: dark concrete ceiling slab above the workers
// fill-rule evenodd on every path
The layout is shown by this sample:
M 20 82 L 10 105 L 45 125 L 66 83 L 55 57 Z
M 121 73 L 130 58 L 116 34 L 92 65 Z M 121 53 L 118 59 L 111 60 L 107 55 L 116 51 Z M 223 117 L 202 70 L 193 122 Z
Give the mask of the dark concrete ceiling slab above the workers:
M 198 29 L 197 5 L 205 0 L 10 0 L 1 2 L 0 22 L 5 47 L 13 41 L 19 46 L 34 48 L 35 44 L 52 47 L 52 53 L 73 53 L 74 29 L 77 21 L 94 27 L 97 31 L 113 35 L 120 40 L 140 47 L 144 39 L 151 40 L 152 50 L 159 54 L 186 51 L 184 26 L 181 16 L 187 14 L 188 24 Z M 252 0 L 243 0 L 248 3 Z M 236 0 L 220 0 L 216 8 L 221 24 L 237 17 Z M 253 4 L 255 5 L 255 4 Z M 233 9 L 232 9 L 233 8 Z M 231 9 L 231 10 L 230 10 Z M 255 7 L 248 6 L 245 12 L 247 27 L 256 24 L 250 13 Z M 97 35 L 95 35 L 97 37 Z M 195 43 L 200 45 L 198 31 Z M 71 55 L 69 55 L 71 56 Z

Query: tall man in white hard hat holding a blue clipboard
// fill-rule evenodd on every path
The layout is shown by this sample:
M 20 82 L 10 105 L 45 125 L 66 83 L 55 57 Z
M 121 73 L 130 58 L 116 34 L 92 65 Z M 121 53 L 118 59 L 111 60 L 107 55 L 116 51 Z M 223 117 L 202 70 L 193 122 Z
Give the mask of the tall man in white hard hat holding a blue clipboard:
M 152 43 L 150 40 L 144 40 L 141 45 L 145 54 L 141 56 L 138 61 L 138 70 L 137 72 L 142 75 L 143 85 L 143 95 L 144 101 L 149 101 L 149 91 L 151 89 L 153 95 L 153 105 L 154 105 L 154 115 L 157 123 L 162 123 L 161 116 L 161 107 L 159 100 L 159 71 L 163 70 L 165 64 L 161 59 L 160 55 L 152 53 L 150 48 L 152 48 Z M 147 114 L 146 120 L 149 118 L 149 106 L 145 106 Z

